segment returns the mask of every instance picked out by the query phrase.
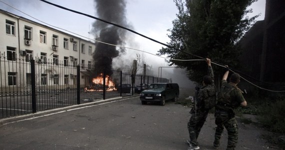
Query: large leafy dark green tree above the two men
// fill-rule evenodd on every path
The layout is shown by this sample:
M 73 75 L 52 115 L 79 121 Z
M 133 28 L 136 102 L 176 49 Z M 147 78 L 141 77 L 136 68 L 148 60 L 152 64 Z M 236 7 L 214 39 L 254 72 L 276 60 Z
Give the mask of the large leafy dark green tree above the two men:
M 177 18 L 169 29 L 169 47 L 162 47 L 158 54 L 172 59 L 197 59 L 209 57 L 214 62 L 238 66 L 240 50 L 235 44 L 254 23 L 255 15 L 246 9 L 256 0 L 174 0 Z M 179 49 L 179 50 L 177 50 Z M 199 56 L 199 57 L 197 57 Z M 169 60 L 170 65 L 186 68 L 189 79 L 200 82 L 206 74 L 204 61 Z M 215 67 L 215 66 L 214 66 Z M 215 67 L 220 72 L 222 67 Z M 218 75 L 218 74 L 216 74 Z

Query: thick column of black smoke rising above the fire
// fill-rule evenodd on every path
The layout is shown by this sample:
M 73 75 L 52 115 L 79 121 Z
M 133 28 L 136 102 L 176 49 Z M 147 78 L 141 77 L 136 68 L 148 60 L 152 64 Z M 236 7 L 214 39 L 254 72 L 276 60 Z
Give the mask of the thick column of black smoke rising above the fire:
M 121 26 L 128 26 L 125 17 L 125 0 L 94 0 L 94 2 L 99 18 Z M 92 31 L 95 34 L 96 40 L 115 45 L 122 45 L 124 43 L 126 30 L 119 27 L 96 20 L 93 23 Z M 96 42 L 93 54 L 94 73 L 96 76 L 104 70 L 106 75 L 111 75 L 112 59 L 117 57 L 121 52 L 124 52 L 124 48 L 118 48 L 105 43 Z

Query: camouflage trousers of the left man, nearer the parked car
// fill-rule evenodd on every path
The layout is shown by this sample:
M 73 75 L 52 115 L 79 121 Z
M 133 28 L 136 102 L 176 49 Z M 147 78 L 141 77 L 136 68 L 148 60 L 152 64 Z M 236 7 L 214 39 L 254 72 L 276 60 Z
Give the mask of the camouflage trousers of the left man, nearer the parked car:
M 190 137 L 190 144 L 192 146 L 197 146 L 197 138 L 199 135 L 199 132 L 208 116 L 208 110 L 198 110 L 197 113 L 193 112 L 191 113 L 191 117 L 187 123 L 188 131 L 189 131 L 189 137 Z

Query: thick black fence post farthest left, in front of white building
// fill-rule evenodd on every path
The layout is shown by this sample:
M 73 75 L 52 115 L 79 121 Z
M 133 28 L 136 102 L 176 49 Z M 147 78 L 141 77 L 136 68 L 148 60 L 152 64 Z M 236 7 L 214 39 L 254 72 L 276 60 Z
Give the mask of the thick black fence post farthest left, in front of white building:
M 31 110 L 32 113 L 36 112 L 36 91 L 35 91 L 35 64 L 34 59 L 30 60 L 30 84 L 31 84 Z

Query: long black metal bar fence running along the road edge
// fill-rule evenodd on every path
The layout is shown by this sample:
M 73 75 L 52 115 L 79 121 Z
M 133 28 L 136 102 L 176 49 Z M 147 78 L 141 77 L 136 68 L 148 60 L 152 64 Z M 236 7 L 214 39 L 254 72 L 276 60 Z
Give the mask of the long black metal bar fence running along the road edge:
M 169 81 L 120 70 L 106 74 L 99 69 L 103 71 L 94 75 L 97 69 L 90 64 L 57 62 L 1 56 L 0 118 L 133 95 L 150 83 Z

